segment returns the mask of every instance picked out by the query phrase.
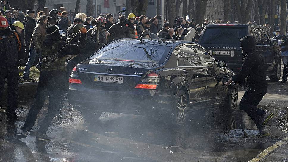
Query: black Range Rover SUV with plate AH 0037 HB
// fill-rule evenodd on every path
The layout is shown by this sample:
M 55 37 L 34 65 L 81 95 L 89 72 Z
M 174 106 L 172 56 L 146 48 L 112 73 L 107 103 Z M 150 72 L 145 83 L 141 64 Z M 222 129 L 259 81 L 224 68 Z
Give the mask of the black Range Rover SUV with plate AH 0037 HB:
M 199 39 L 216 60 L 223 60 L 235 73 L 242 66 L 240 39 L 246 35 L 255 37 L 256 51 L 264 58 L 264 69 L 271 81 L 278 82 L 281 76 L 281 54 L 272 49 L 272 41 L 261 25 L 254 24 L 210 24 L 206 25 Z

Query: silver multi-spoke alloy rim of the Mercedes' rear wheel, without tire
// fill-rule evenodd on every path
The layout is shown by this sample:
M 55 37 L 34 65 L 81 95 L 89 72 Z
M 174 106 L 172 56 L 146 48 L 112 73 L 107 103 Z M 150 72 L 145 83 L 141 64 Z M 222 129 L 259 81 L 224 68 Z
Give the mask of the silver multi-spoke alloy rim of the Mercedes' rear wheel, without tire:
M 186 96 L 181 94 L 177 103 L 177 120 L 180 124 L 184 123 L 187 116 L 187 100 Z

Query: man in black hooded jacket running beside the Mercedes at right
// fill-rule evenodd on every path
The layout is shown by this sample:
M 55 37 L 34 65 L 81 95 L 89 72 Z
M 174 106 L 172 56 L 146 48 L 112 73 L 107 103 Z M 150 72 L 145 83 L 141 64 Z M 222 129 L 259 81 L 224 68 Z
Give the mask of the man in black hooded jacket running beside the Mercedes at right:
M 268 87 L 263 69 L 264 63 L 259 53 L 255 51 L 254 37 L 245 36 L 240 39 L 240 43 L 244 55 L 241 70 L 239 74 L 234 75 L 226 82 L 225 86 L 228 86 L 232 81 L 241 82 L 245 80 L 247 90 L 239 103 L 239 108 L 244 110 L 254 121 L 259 129 L 258 135 L 267 136 L 270 133 L 265 125 L 273 118 L 274 114 L 257 108 L 257 105 L 267 93 Z

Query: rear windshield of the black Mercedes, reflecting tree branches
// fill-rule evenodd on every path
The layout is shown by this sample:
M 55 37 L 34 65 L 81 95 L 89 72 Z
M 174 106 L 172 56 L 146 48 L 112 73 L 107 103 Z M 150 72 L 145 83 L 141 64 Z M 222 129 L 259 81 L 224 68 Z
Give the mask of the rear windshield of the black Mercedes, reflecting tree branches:
M 90 59 L 164 63 L 171 47 L 140 43 L 110 43 Z

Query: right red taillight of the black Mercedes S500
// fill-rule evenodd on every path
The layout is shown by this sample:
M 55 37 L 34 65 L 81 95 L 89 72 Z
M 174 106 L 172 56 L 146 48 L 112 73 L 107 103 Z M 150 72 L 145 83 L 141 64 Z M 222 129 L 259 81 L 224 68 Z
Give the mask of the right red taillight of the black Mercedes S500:
M 136 86 L 139 89 L 156 89 L 161 75 L 151 72 L 147 74 Z

